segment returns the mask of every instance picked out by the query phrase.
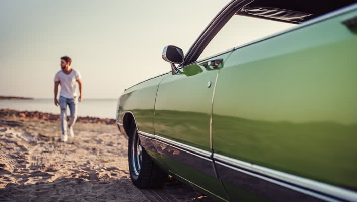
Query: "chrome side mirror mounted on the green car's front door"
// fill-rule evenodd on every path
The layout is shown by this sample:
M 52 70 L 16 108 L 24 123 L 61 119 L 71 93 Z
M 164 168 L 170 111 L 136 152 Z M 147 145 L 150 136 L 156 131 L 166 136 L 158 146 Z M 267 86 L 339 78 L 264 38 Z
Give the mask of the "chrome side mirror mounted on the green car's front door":
M 183 51 L 174 45 L 164 47 L 161 57 L 171 64 L 171 73 L 176 74 L 178 69 L 175 64 L 183 63 Z

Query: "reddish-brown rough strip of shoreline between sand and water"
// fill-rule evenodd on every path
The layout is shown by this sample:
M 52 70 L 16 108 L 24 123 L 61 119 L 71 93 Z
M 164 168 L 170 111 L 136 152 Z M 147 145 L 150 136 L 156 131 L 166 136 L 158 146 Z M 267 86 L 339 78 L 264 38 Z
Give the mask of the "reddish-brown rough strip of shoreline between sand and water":
M 40 111 L 19 111 L 12 109 L 0 109 L 0 118 L 5 117 L 19 117 L 19 118 L 29 118 L 29 119 L 38 119 L 50 122 L 60 121 L 60 114 L 52 114 Z M 69 117 L 67 117 L 67 121 Z M 78 116 L 76 122 L 79 123 L 100 123 L 106 125 L 115 125 L 116 120 L 110 118 L 99 118 L 99 117 L 81 117 Z

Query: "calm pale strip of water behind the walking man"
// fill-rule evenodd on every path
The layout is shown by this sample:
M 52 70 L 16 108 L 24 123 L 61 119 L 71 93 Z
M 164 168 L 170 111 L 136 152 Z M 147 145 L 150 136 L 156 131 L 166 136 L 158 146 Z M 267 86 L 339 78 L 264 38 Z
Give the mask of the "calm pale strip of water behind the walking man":
M 115 119 L 117 99 L 84 99 L 78 102 L 78 116 Z M 19 111 L 39 111 L 60 114 L 60 107 L 55 106 L 53 98 L 35 98 L 29 100 L 0 100 L 0 109 Z M 70 114 L 67 107 L 67 114 Z

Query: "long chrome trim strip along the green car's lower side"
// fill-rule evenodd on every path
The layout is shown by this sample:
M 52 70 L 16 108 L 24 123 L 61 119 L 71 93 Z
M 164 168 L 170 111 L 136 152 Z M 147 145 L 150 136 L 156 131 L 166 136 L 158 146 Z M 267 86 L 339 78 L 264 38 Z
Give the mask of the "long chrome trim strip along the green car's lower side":
M 215 163 L 222 165 L 224 167 L 251 175 L 253 177 L 258 177 L 260 179 L 272 182 L 274 184 L 278 184 L 280 186 L 284 186 L 286 188 L 304 194 L 308 194 L 310 196 L 314 196 L 327 201 L 338 201 L 332 197 L 340 198 L 347 201 L 357 201 L 357 192 L 351 190 L 347 190 L 334 185 L 318 182 L 303 177 L 298 177 L 296 175 L 273 170 L 270 168 L 233 159 L 223 155 L 213 154 L 212 151 L 210 152 L 207 150 L 199 149 L 158 135 L 153 135 L 143 131 L 138 131 L 138 133 L 142 137 L 149 138 L 158 143 L 171 146 L 187 154 L 194 155 L 195 157 L 198 157 L 200 159 L 209 162 L 213 162 L 214 160 Z M 213 158 L 213 160 L 211 158 Z M 214 168 L 214 171 L 216 171 L 216 168 Z M 215 172 L 215 175 L 219 177 L 219 175 L 217 175 L 217 172 Z M 332 197 L 329 197 L 329 195 Z

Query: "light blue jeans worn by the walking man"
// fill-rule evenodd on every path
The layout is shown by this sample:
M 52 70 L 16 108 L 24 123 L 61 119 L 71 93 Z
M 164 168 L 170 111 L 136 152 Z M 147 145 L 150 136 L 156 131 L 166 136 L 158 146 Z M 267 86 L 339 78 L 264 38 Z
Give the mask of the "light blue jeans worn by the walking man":
M 77 119 L 78 98 L 74 97 L 73 99 L 69 99 L 69 98 L 60 96 L 60 99 L 58 100 L 58 102 L 60 103 L 60 108 L 61 108 L 62 134 L 66 134 L 67 133 L 67 105 L 69 106 L 69 109 L 71 111 L 71 116 L 69 119 L 68 126 L 72 127 Z

